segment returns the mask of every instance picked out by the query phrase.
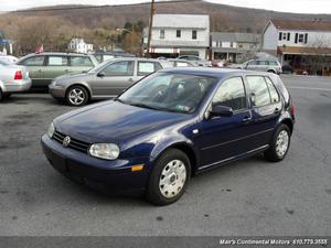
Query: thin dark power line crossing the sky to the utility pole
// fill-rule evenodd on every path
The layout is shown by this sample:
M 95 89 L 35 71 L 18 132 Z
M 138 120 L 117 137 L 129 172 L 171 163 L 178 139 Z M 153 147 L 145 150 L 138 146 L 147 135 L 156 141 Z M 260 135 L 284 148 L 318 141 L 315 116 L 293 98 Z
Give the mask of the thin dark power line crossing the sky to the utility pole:
M 173 1 L 158 1 L 157 4 L 181 3 L 181 2 L 201 2 L 202 0 L 173 0 Z M 41 8 L 41 9 L 28 9 L 15 10 L 8 13 L 30 13 L 30 12 L 47 12 L 47 11 L 72 11 L 72 10 L 90 10 L 90 9 L 104 9 L 104 8 L 118 8 L 118 7 L 132 7 L 140 4 L 149 4 L 148 2 L 135 3 L 135 4 L 115 4 L 115 6 L 77 6 L 77 7 L 58 7 L 58 8 Z

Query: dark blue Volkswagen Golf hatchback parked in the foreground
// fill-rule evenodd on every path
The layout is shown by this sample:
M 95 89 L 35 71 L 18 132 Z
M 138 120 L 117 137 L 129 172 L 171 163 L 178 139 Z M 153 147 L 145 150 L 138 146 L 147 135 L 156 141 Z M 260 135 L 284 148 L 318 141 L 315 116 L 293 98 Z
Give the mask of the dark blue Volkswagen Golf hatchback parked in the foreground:
M 295 108 L 277 75 L 172 68 L 110 101 L 55 118 L 42 145 L 70 179 L 141 191 L 167 205 L 203 171 L 257 153 L 281 161 L 293 123 Z

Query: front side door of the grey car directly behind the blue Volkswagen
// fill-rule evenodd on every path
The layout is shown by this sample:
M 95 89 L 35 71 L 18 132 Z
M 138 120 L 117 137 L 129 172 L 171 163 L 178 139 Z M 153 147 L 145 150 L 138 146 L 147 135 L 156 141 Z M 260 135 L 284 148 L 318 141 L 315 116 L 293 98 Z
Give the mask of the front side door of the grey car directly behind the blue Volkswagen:
M 96 96 L 117 96 L 130 87 L 137 77 L 134 74 L 135 61 L 110 63 L 94 75 L 90 87 Z

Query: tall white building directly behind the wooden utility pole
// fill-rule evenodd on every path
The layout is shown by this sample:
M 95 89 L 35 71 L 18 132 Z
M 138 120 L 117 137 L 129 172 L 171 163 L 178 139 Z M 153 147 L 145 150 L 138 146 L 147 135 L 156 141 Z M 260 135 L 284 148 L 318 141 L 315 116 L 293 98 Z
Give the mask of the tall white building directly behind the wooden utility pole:
M 143 44 L 148 29 L 143 31 Z M 151 33 L 150 54 L 153 57 L 196 55 L 205 60 L 210 45 L 210 17 L 204 14 L 156 14 Z

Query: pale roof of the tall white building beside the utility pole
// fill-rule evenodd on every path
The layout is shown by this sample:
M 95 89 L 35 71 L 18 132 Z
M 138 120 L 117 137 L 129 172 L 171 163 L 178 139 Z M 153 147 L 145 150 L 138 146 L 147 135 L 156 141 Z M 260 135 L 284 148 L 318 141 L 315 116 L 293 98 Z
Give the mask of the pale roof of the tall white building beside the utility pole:
M 207 14 L 156 14 L 153 28 L 209 29 Z

